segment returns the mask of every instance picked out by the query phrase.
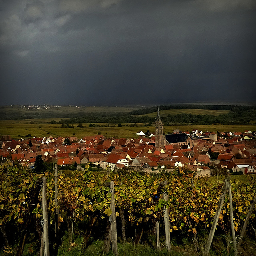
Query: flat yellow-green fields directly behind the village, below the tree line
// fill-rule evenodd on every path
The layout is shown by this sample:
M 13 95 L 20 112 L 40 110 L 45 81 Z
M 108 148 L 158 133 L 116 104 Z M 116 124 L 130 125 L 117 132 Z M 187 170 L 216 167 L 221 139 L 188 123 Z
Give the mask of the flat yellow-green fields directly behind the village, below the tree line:
M 74 128 L 61 128 L 61 124 L 50 124 L 53 119 L 31 119 L 31 120 L 0 120 L 0 135 L 10 135 L 11 138 L 25 138 L 27 134 L 31 134 L 35 137 L 42 136 L 76 136 L 83 138 L 84 136 L 90 136 L 101 132 L 106 137 L 118 137 L 118 138 L 136 138 L 136 132 L 142 130 L 146 132 L 154 132 L 154 126 L 144 126 L 144 124 L 138 123 L 138 126 L 130 127 L 126 124 L 122 124 L 122 127 L 117 127 L 117 124 L 110 124 L 114 127 L 93 127 L 89 128 L 89 124 L 83 124 L 84 128 L 77 127 L 77 124 L 73 124 Z M 54 118 L 58 122 L 58 118 Z M 97 123 L 96 125 L 102 125 Z M 106 124 L 103 124 L 106 125 Z M 250 125 L 178 125 L 178 126 L 164 126 L 166 134 L 172 133 L 174 129 L 181 131 L 191 131 L 193 129 L 202 130 L 203 132 L 244 132 L 245 130 L 256 130 L 255 124 Z

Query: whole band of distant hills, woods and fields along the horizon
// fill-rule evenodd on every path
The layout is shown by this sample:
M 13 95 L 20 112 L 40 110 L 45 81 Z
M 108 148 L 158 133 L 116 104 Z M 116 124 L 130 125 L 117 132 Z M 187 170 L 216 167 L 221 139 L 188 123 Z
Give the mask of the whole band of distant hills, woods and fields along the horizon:
M 256 120 L 256 106 L 166 105 L 159 106 L 165 125 L 250 124 Z M 157 106 L 144 108 L 84 106 L 9 106 L 0 107 L 0 120 L 62 118 L 60 124 L 135 124 L 153 125 Z

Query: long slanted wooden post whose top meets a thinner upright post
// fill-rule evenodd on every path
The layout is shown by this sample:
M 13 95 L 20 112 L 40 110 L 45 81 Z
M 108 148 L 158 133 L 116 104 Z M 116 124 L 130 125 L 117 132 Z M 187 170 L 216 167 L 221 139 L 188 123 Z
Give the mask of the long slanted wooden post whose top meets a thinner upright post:
M 206 247 L 205 247 L 205 250 L 204 250 L 204 255 L 208 255 L 208 253 L 210 251 L 210 247 L 211 247 L 211 244 L 212 244 L 212 238 L 214 236 L 214 232 L 215 232 L 215 229 L 216 229 L 216 226 L 217 226 L 217 223 L 218 223 L 218 219 L 220 217 L 220 212 L 221 212 L 221 208 L 222 208 L 223 203 L 224 203 L 224 198 L 226 196 L 226 193 L 227 193 L 227 180 L 225 179 L 225 181 L 223 183 L 220 199 L 219 199 L 219 202 L 218 202 L 218 207 L 217 207 L 214 219 L 213 219 L 211 231 L 210 231 L 210 234 L 208 236 L 207 244 L 206 244 Z

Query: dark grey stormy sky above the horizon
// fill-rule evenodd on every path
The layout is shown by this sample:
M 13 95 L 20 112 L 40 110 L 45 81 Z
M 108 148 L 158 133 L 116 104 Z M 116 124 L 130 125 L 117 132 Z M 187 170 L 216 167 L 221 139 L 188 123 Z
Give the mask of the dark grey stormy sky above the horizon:
M 0 105 L 255 102 L 255 0 L 0 0 Z

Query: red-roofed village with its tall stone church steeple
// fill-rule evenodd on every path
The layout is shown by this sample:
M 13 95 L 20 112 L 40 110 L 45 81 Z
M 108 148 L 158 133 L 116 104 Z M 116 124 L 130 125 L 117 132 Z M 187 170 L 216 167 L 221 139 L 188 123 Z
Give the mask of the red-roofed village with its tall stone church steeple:
M 155 133 L 138 131 L 138 138 L 106 138 L 104 135 L 12 140 L 0 138 L 0 162 L 34 168 L 37 156 L 58 166 L 93 164 L 102 169 L 130 167 L 138 171 L 171 171 L 187 166 L 196 176 L 216 170 L 256 174 L 256 132 L 202 132 L 174 130 L 164 134 L 159 110 Z

